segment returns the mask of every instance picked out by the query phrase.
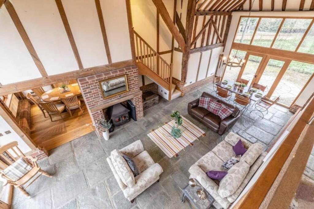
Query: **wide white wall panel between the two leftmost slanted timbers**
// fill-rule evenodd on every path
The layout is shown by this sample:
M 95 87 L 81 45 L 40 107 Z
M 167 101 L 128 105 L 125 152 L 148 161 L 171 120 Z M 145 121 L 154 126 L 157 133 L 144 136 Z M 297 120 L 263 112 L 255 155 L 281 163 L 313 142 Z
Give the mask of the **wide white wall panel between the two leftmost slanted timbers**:
M 12 0 L 48 75 L 78 70 L 54 0 Z M 26 80 L 26 79 L 24 79 Z

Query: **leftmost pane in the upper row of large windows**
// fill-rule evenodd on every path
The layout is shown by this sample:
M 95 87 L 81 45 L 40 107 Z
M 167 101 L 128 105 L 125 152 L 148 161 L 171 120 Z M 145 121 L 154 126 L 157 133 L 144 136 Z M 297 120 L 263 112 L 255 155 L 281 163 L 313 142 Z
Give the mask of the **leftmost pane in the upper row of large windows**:
M 235 42 L 250 44 L 258 18 L 241 18 Z

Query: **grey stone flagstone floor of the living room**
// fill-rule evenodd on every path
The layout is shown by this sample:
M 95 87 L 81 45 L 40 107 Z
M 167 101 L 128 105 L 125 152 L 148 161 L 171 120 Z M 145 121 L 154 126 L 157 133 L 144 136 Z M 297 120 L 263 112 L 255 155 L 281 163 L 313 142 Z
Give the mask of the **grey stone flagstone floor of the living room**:
M 187 114 L 187 104 L 200 97 L 203 91 L 213 91 L 212 84 L 171 102 L 160 99 L 159 104 L 144 111 L 144 118 L 117 127 L 108 141 L 98 139 L 92 132 L 51 150 L 50 156 L 39 164 L 53 177 L 40 176 L 26 188 L 31 199 L 14 189 L 12 208 L 190 208 L 187 200 L 181 203 L 181 189 L 187 185 L 188 169 L 192 164 L 219 144 L 230 131 L 253 143 L 262 143 L 266 150 L 292 115 L 277 105 L 269 109 L 264 119 L 256 112 L 245 112 L 227 133 L 220 136 Z M 149 139 L 147 133 L 170 121 L 173 110 L 180 111 L 202 128 L 206 136 L 182 150 L 177 158 L 170 159 Z M 111 150 L 121 149 L 138 139 L 164 172 L 160 182 L 150 186 L 131 204 L 123 196 L 106 157 Z

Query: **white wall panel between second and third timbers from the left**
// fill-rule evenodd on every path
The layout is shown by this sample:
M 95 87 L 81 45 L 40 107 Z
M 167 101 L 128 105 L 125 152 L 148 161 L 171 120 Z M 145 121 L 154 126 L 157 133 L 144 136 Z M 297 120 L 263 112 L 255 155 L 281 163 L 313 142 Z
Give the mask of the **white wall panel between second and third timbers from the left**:
M 108 64 L 95 1 L 62 0 L 84 68 Z

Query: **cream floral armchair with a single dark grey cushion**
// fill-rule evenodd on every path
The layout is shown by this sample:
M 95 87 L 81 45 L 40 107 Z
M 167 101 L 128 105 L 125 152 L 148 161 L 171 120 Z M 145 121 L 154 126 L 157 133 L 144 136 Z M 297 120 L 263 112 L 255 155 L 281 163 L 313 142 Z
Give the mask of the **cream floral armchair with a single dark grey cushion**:
M 132 158 L 138 167 L 139 175 L 135 176 L 123 158 L 123 154 Z M 123 149 L 112 150 L 107 157 L 108 164 L 124 196 L 131 202 L 154 182 L 159 181 L 163 172 L 161 166 L 155 163 L 140 140 L 129 144 Z

